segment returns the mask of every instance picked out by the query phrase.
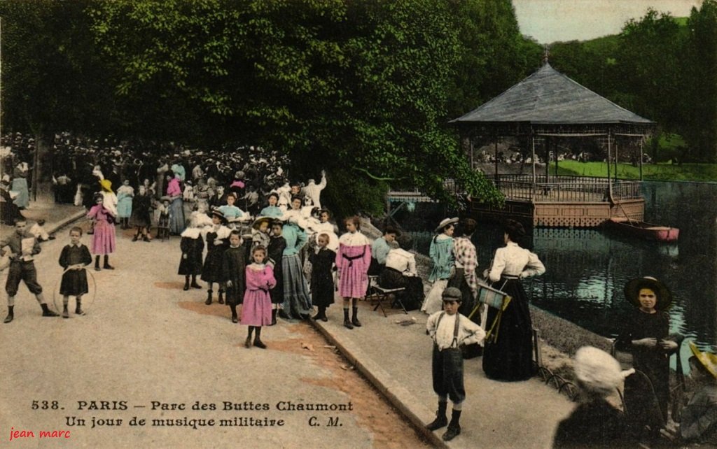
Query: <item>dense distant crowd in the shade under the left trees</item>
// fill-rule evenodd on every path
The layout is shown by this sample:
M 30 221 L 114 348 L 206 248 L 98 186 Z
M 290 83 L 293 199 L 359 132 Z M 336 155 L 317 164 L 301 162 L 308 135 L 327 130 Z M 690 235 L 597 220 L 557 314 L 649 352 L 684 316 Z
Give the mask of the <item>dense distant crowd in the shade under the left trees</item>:
M 0 201 L 5 223 L 12 224 L 22 208 L 27 207 L 27 178 L 32 170 L 34 145 L 34 139 L 19 132 L 0 137 L 3 148 L 0 171 L 4 173 Z M 174 211 L 174 231 L 179 232 L 177 197 L 196 201 L 196 205 L 208 211 L 208 206 L 221 206 L 224 195 L 231 191 L 237 195 L 238 206 L 256 214 L 270 191 L 288 192 L 290 188 L 288 156 L 260 146 L 225 144 L 219 148 L 190 149 L 174 143 L 98 140 L 63 132 L 54 136 L 47 157 L 52 158 L 56 203 L 75 203 L 89 210 L 95 204 L 95 193 L 101 192 L 98 180 L 107 179 L 128 205 L 127 198 L 138 195 L 143 186 L 153 211 L 162 208 Z M 313 198 L 323 185 L 309 183 L 302 187 Z M 280 198 L 285 204 L 289 199 L 288 194 Z M 218 205 L 214 204 L 217 202 Z M 118 217 L 125 226 L 131 218 L 127 211 L 127 207 L 123 208 L 123 215 Z M 156 225 L 156 220 L 153 224 Z

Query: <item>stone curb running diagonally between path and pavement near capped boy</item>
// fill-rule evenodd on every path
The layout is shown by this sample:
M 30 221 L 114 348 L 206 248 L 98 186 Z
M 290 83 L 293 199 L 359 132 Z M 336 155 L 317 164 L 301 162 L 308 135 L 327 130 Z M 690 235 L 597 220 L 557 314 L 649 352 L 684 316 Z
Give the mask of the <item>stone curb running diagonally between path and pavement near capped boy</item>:
M 384 370 L 379 363 L 367 356 L 360 347 L 351 342 L 350 339 L 342 339 L 327 329 L 323 324 L 313 319 L 309 320 L 311 325 L 323 334 L 331 344 L 346 357 L 366 379 L 384 395 L 391 405 L 396 407 L 399 412 L 406 417 L 413 427 L 419 431 L 429 442 L 437 448 L 450 448 L 439 435 L 424 426 L 434 417 L 434 413 L 428 409 L 422 402 L 416 399 L 401 383 L 395 380 Z M 424 418 L 422 418 L 424 417 Z

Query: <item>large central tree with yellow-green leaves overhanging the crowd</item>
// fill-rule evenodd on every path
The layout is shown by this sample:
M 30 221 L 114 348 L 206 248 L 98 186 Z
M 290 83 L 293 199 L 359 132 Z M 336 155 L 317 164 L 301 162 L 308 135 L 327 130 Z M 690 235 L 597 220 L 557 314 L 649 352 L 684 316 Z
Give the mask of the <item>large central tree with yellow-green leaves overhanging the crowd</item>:
M 143 122 L 165 135 L 249 139 L 290 152 L 293 175 L 322 165 L 443 199 L 442 180 L 457 177 L 497 201 L 443 126 L 461 51 L 451 13 L 431 0 L 119 0 L 91 9 L 116 92 L 127 105 L 143 102 Z M 158 120 L 168 104 L 171 120 Z M 192 126 L 176 126 L 193 115 Z

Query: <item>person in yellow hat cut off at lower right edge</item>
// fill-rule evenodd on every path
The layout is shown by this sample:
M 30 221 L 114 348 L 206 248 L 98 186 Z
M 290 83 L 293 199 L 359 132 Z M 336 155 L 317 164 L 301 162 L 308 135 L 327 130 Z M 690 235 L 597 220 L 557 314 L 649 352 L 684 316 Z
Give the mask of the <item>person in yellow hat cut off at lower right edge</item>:
M 702 352 L 693 342 L 690 349 L 690 377 L 697 382 L 695 392 L 682 411 L 680 436 L 684 440 L 717 446 L 717 355 Z

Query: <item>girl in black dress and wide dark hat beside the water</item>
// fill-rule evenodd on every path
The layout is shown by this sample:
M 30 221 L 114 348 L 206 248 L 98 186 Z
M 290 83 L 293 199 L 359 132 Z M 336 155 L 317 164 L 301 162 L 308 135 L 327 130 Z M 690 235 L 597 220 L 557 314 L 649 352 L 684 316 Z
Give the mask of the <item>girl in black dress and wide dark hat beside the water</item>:
M 633 418 L 656 433 L 668 420 L 670 354 L 677 351 L 683 337 L 670 335 L 670 316 L 665 311 L 672 304 L 672 293 L 663 282 L 649 276 L 632 279 L 625 284 L 625 299 L 635 309 L 627 315 L 615 349 L 630 352 L 635 370 L 650 379 L 662 419 L 650 413 L 652 398 L 640 392 L 639 376 L 625 381 L 625 402 L 634 401 L 639 416 Z

